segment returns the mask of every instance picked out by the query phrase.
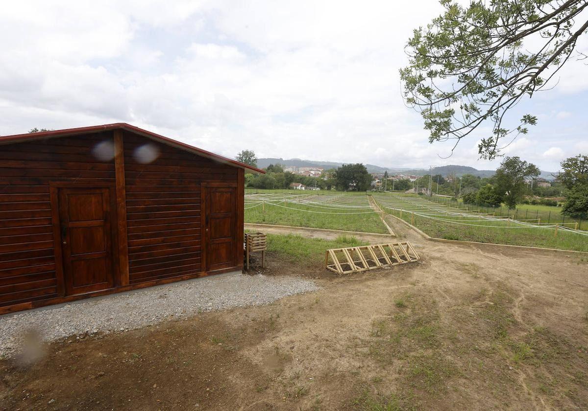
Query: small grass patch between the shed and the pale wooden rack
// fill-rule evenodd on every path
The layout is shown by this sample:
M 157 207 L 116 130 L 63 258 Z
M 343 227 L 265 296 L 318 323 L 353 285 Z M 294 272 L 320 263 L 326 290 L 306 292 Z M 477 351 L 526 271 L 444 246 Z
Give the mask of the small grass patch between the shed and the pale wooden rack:
M 329 248 L 356 247 L 366 245 L 367 242 L 359 241 L 349 235 L 340 235 L 335 240 L 323 240 L 322 238 L 306 238 L 302 235 L 268 234 L 268 251 L 276 252 L 286 259 L 300 263 L 319 263 L 325 259 L 325 251 Z

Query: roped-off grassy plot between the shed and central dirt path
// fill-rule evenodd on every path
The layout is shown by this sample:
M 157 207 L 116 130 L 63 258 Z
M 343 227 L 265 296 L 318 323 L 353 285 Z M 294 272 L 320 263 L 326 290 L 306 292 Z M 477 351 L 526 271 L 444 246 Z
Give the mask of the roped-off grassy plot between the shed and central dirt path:
M 292 190 L 288 194 L 292 194 Z M 316 197 L 322 197 L 315 195 Z M 329 193 L 325 198 L 331 197 Z M 363 233 L 387 233 L 386 227 L 370 208 L 367 196 L 361 194 L 345 194 L 354 203 L 363 204 L 362 208 L 348 207 L 333 203 L 287 203 L 269 200 L 265 204 L 252 203 L 245 206 L 245 223 L 293 225 L 296 227 L 329 228 L 331 230 L 362 231 Z M 258 204 L 255 206 L 255 204 Z M 248 208 L 250 207 L 250 208 Z M 351 206 L 349 206 L 351 207 Z M 359 206 L 353 206 L 359 207 Z

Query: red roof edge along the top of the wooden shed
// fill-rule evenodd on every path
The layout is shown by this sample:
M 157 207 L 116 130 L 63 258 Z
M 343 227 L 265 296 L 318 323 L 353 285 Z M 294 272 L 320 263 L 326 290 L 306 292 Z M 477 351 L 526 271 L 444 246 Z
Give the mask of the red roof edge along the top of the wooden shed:
M 169 139 L 168 137 L 161 136 L 160 134 L 139 129 L 139 127 L 131 126 L 131 124 L 127 123 L 103 124 L 102 126 L 77 127 L 75 129 L 52 130 L 50 132 L 15 134 L 14 136 L 0 136 L 0 144 L 19 143 L 30 140 L 51 139 L 64 136 L 74 136 L 76 134 L 103 132 L 115 129 L 128 130 L 129 132 L 140 134 L 141 136 L 148 137 L 149 139 L 156 140 L 163 144 L 168 144 L 168 146 L 189 151 L 193 154 L 197 154 L 198 156 L 207 157 L 208 159 L 220 161 L 220 163 L 228 164 L 229 166 L 241 167 L 242 169 L 251 170 L 254 173 L 265 174 L 264 170 L 258 169 L 257 167 L 252 167 L 248 164 L 240 163 L 239 161 L 219 156 L 219 154 L 211 153 L 210 151 L 202 150 L 198 147 L 193 147 L 189 144 L 178 142 L 178 140 Z

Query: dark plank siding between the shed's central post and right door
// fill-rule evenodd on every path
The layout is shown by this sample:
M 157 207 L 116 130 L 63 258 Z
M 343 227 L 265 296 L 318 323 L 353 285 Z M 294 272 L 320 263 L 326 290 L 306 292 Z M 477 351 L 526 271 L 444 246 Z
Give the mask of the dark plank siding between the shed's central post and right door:
M 129 283 L 205 271 L 201 183 L 236 183 L 239 169 L 135 134 L 123 140 Z

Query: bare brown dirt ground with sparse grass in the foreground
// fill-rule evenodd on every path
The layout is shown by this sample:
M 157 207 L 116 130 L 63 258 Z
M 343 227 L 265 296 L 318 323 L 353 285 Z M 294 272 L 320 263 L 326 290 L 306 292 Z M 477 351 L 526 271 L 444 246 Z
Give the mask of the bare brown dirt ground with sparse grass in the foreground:
M 269 255 L 322 289 L 4 359 L 0 408 L 588 409 L 586 255 L 389 223 L 422 261 L 336 278 Z

